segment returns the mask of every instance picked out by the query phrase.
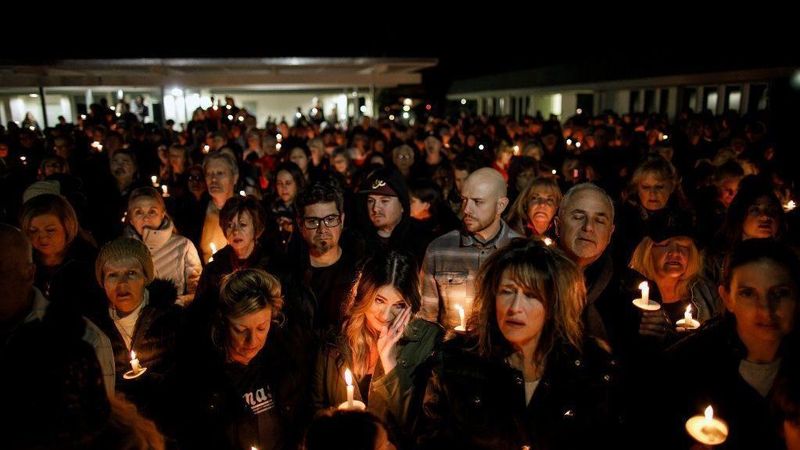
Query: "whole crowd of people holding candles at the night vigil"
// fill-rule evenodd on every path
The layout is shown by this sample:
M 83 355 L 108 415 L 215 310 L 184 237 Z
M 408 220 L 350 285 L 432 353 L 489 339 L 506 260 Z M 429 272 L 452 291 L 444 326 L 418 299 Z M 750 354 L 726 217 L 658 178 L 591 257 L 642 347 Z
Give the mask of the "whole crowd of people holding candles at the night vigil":
M 0 132 L 2 447 L 800 449 L 760 115 L 142 118 Z

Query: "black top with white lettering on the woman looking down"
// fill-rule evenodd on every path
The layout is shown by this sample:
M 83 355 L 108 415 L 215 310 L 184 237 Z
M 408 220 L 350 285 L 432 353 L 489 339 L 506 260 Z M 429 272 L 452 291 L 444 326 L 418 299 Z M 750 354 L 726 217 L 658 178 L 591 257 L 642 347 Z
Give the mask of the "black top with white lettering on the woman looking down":
M 246 366 L 210 350 L 179 367 L 179 443 L 186 449 L 294 449 L 310 420 L 313 348 L 273 325 Z M 202 373 L 198 374 L 198 370 Z

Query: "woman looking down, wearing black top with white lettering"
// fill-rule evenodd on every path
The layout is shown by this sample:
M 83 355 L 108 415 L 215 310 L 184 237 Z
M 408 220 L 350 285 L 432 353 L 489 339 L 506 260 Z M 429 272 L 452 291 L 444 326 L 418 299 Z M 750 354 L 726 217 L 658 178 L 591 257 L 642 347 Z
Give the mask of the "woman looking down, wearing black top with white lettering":
M 181 448 L 297 448 L 310 418 L 313 351 L 283 319 L 280 283 L 244 269 L 224 279 L 219 298 L 213 347 L 195 348 L 179 370 Z

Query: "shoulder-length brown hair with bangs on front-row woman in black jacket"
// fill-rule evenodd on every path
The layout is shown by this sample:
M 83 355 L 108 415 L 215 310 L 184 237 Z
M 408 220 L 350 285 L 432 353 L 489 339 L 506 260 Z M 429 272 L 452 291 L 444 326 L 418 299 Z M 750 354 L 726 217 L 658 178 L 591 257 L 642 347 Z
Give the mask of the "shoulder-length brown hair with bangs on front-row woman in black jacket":
M 517 238 L 494 252 L 478 272 L 476 307 L 469 325 L 471 332 L 478 335 L 478 352 L 493 358 L 513 351 L 497 324 L 496 297 L 504 273 L 544 304 L 544 327 L 535 362 L 543 361 L 558 342 L 581 350 L 581 314 L 586 304 L 583 274 L 561 250 L 539 240 Z

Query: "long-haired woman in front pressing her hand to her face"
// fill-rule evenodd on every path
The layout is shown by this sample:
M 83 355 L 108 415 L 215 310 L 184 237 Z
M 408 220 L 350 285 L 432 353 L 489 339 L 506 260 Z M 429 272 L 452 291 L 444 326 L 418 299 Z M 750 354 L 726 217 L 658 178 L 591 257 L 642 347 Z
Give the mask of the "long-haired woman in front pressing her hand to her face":
M 347 400 L 345 370 L 354 399 L 380 417 L 394 442 L 410 437 L 427 372 L 423 363 L 441 342 L 443 329 L 421 319 L 414 258 L 397 251 L 367 259 L 353 286 L 342 334 L 321 351 L 313 378 L 315 409 Z

